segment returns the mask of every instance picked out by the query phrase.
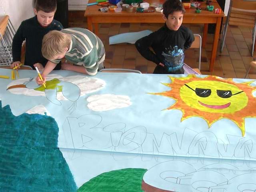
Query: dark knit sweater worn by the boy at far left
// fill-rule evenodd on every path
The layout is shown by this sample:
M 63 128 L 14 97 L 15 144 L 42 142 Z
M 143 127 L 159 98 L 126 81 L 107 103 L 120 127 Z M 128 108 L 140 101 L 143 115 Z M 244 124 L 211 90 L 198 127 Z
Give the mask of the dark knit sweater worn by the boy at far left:
M 33 64 L 41 63 L 46 65 L 46 58 L 42 56 L 42 39 L 46 33 L 51 30 L 62 30 L 63 26 L 60 22 L 53 20 L 47 27 L 42 27 L 34 16 L 30 19 L 24 20 L 14 35 L 12 42 L 13 61 L 20 61 L 22 42 L 26 40 L 26 55 L 25 65 L 32 66 Z M 55 69 L 60 69 L 60 64 Z

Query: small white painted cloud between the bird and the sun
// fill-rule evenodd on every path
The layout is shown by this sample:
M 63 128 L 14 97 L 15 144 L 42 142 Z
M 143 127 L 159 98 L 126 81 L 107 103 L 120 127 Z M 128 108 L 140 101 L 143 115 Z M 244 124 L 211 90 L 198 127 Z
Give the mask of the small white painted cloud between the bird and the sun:
M 94 111 L 107 111 L 128 107 L 132 104 L 130 98 L 124 95 L 102 94 L 87 98 L 88 108 Z

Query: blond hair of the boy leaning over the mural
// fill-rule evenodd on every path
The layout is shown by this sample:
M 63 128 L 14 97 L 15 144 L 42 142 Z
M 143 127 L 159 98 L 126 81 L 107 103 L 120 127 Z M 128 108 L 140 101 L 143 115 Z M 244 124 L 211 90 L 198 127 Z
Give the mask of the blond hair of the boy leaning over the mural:
M 70 34 L 52 30 L 44 35 L 42 42 L 42 55 L 48 60 L 54 60 L 56 59 L 56 56 L 64 54 L 66 52 L 66 48 L 69 49 L 70 43 Z

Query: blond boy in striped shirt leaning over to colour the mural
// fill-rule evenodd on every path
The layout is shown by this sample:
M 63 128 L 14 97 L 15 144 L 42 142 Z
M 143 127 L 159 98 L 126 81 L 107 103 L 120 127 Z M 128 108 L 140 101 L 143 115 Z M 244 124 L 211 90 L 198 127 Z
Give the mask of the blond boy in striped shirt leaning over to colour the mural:
M 62 69 L 88 75 L 96 75 L 98 70 L 103 68 L 105 60 L 102 41 L 84 28 L 67 28 L 49 32 L 43 38 L 42 54 L 48 62 L 42 72 L 43 80 L 36 78 L 38 84 L 46 81 L 46 76 L 64 57 L 71 64 L 63 63 Z

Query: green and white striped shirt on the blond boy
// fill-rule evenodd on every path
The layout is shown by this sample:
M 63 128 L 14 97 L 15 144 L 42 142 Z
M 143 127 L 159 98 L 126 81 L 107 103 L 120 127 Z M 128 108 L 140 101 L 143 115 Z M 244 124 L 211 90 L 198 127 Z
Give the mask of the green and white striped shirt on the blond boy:
M 83 65 L 89 75 L 95 75 L 99 64 L 105 59 L 105 49 L 100 38 L 84 28 L 67 28 L 61 32 L 71 34 L 71 44 L 65 58 L 73 64 Z M 60 60 L 52 62 L 59 63 Z

